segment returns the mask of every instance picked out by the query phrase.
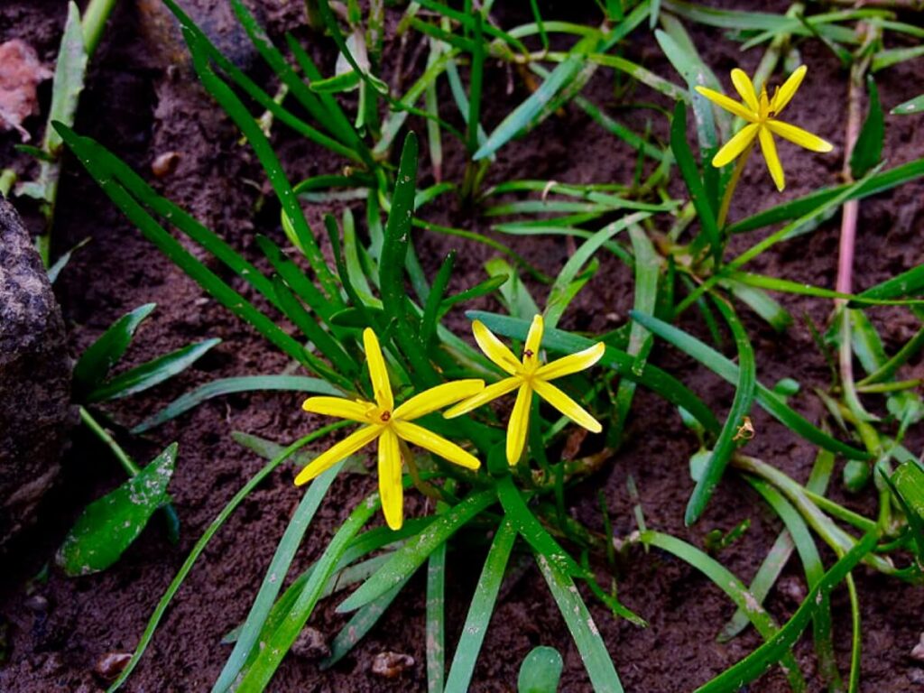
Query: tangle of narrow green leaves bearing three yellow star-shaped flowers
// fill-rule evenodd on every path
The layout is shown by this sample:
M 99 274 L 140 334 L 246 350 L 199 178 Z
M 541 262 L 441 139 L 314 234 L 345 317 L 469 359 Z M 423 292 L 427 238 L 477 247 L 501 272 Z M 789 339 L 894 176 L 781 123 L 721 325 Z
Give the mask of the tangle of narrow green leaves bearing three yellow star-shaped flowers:
M 136 431 L 153 435 L 164 421 L 207 398 L 252 390 L 304 393 L 307 412 L 345 420 L 306 419 L 325 425 L 276 447 L 249 439 L 269 461 L 243 482 L 189 553 L 111 691 L 132 675 L 169 604 L 177 594 L 181 598 L 183 580 L 227 517 L 293 456 L 303 467 L 293 472 L 288 492 L 301 501 L 246 618 L 228 625 L 225 641 L 233 647 L 213 691 L 272 687 L 280 663 L 323 599 L 335 600 L 338 613 L 351 614 L 322 668 L 336 665 L 359 646 L 399 592 L 419 588 L 412 580 L 418 573 L 425 574 L 420 638 L 426 641 L 428 690 L 468 690 L 475 685 L 502 583 L 524 556 L 561 612 L 590 686 L 621 691 L 617 669 L 632 663 L 604 638 L 598 622 L 618 618 L 646 626 L 647 614 L 627 608 L 616 589 L 621 571 L 643 560 L 638 549 L 675 556 L 723 592 L 736 611 L 728 623 L 715 624 L 721 641 L 750 626 L 758 633 L 756 649 L 699 682 L 699 691 L 739 690 L 774 666 L 796 691 L 815 689 L 818 682 L 830 690 L 858 690 L 862 595 L 853 576 L 869 570 L 883 579 L 919 583 L 924 569 L 924 468 L 917 451 L 905 447 L 910 427 L 924 419 L 924 406 L 919 381 L 903 371 L 924 346 L 924 328 L 890 354 L 868 311 L 891 306 L 910 311 L 919 322 L 924 266 L 854 292 L 847 281 L 815 286 L 760 274 L 750 263 L 800 242 L 837 214 L 856 219 L 852 205 L 924 176 L 924 159 L 899 165 L 882 160 L 888 120 L 870 79 L 919 55 L 916 27 L 888 8 L 828 11 L 802 3 L 772 14 L 679 0 L 601 1 L 599 17 L 588 24 L 547 20 L 540 4 L 531 3 L 529 20 L 505 26 L 495 20 L 490 1 L 466 0 L 460 10 L 438 0 L 388 8 L 311 0 L 312 35 L 338 55 L 334 74 L 327 74 L 298 38 L 274 42 L 247 6 L 232 0 L 257 53 L 284 87 L 274 91 L 223 55 L 181 2 L 164 3 L 182 27 L 205 91 L 239 128 L 272 188 L 279 225 L 261 229 L 262 257 L 230 246 L 100 143 L 66 123 L 57 123 L 56 131 L 144 237 L 261 334 L 268 349 L 285 354 L 292 367 L 208 383 L 154 413 Z M 383 21 L 388 12 L 395 22 Z M 689 31 L 693 25 L 721 30 L 742 50 L 760 55 L 753 79 L 740 68 L 732 71 L 741 103 L 723 94 L 699 55 Z M 402 40 L 417 42 L 427 55 L 403 91 L 386 79 L 385 26 L 394 26 Z M 633 45 L 647 33 L 673 71 L 638 62 Z M 884 47 L 884 36 L 917 43 L 896 53 Z M 833 136 L 845 157 L 845 176 L 730 219 L 755 142 L 779 190 L 784 165 L 774 135 L 834 155 L 832 143 L 778 119 L 800 85 L 800 98 L 817 98 L 812 93 L 817 84 L 803 82 L 808 66 L 797 64 L 798 46 L 809 42 L 832 52 L 850 72 L 858 103 L 869 94 L 866 116 L 857 110 L 846 118 L 844 140 Z M 516 73 L 528 94 L 504 106 L 502 116 L 492 118 L 493 127 L 485 117 L 489 105 L 498 108 L 485 83 L 489 63 Z M 634 129 L 619 111 L 594 103 L 585 90 L 592 79 L 609 80 L 626 103 L 637 103 L 629 94 L 644 94 L 638 98 L 650 105 L 626 108 L 641 112 L 649 126 Z M 782 86 L 771 96 L 768 84 L 774 80 Z M 347 92 L 356 92 L 356 98 L 344 98 Z M 896 105 L 897 112 L 909 114 L 916 103 Z M 610 144 L 636 152 L 632 174 L 597 182 L 495 174 L 492 163 L 515 140 L 541 147 L 533 131 L 563 108 L 586 114 L 601 137 L 613 138 Z M 744 121 L 743 128 L 736 128 L 732 116 Z M 433 178 L 427 187 L 419 186 L 421 155 L 412 125 L 426 132 Z M 273 146 L 272 136 L 283 130 L 286 137 L 331 152 L 343 166 L 290 180 Z M 444 165 L 451 148 L 464 160 L 455 179 Z M 729 171 L 726 164 L 733 161 L 736 167 Z M 429 209 L 445 200 L 492 233 L 432 221 Z M 326 215 L 323 229 L 311 228 L 302 201 L 331 208 L 346 203 L 348 209 L 339 218 Z M 845 222 L 841 236 L 847 259 L 851 229 L 856 230 L 850 224 Z M 485 278 L 450 293 L 456 256 L 446 255 L 437 271 L 426 272 L 418 249 L 428 235 L 454 237 L 459 248 L 479 243 L 492 249 Z M 548 263 L 536 266 L 535 258 L 506 242 L 510 237 L 564 237 L 569 251 L 550 275 Z M 626 265 L 632 310 L 614 330 L 591 334 L 573 307 L 601 272 L 603 259 Z M 845 277 L 849 268 L 843 260 Z M 830 329 L 809 325 L 819 358 L 841 362 L 831 382 L 814 391 L 792 379 L 774 384 L 760 379 L 760 351 L 749 328 L 762 321 L 784 334 L 794 318 L 785 301 L 774 297 L 786 295 L 817 300 L 834 312 Z M 460 312 L 475 299 L 489 310 Z M 454 321 L 446 319 L 451 313 Z M 467 330 L 451 329 L 464 318 L 480 348 L 468 341 Z M 659 352 L 669 349 L 728 383 L 734 392 L 730 406 L 712 408 L 656 365 Z M 865 373 L 858 379 L 857 365 Z M 679 486 L 691 486 L 683 517 L 691 531 L 710 512 L 716 490 L 733 476 L 753 490 L 754 513 L 779 519 L 780 534 L 750 584 L 723 565 L 722 556 L 747 525 L 726 528 L 699 546 L 651 526 L 640 501 L 634 528 L 619 533 L 605 508 L 601 523 L 592 526 L 567 512 L 582 484 L 590 478 L 604 483 L 607 470 L 619 466 L 639 389 L 663 399 L 686 424 L 690 441 L 699 444 L 690 460 L 692 483 L 679 472 L 676 479 Z M 829 416 L 812 421 L 800 413 L 802 400 L 791 401 L 800 391 L 802 397 L 817 397 Z M 778 460 L 748 453 L 749 441 L 761 435 L 751 419 L 757 408 L 816 451 L 807 481 L 785 474 Z M 572 422 L 580 428 L 569 426 Z M 340 442 L 327 439 L 354 424 L 359 429 Z M 643 423 L 643 428 L 653 427 Z M 326 445 L 317 455 L 308 452 L 316 442 Z M 373 442 L 379 491 L 346 509 L 317 560 L 299 573 L 294 559 L 337 472 L 348 463 L 361 465 L 363 450 Z M 870 506 L 877 508 L 871 517 L 829 497 L 837 482 L 835 464 L 841 462 L 846 487 L 870 494 Z M 404 498 L 411 492 L 428 503 L 405 517 Z M 638 498 L 638 490 L 632 494 Z M 372 526 L 380 508 L 384 528 Z M 246 535 L 237 541 L 246 542 Z M 465 626 L 450 646 L 446 601 L 468 599 L 445 590 L 452 579 L 447 547 L 454 546 L 480 551 L 469 555 L 483 555 L 484 562 Z M 766 599 L 790 559 L 804 572 L 808 591 L 783 619 L 771 613 Z M 848 594 L 852 632 L 835 618 L 835 590 Z M 807 631 L 816 667 L 804 666 L 804 657 L 794 652 Z M 843 648 L 851 651 L 846 668 L 834 656 Z M 447 665 L 444 654 L 450 650 Z M 521 689 L 553 690 L 562 661 L 533 650 L 523 666 Z

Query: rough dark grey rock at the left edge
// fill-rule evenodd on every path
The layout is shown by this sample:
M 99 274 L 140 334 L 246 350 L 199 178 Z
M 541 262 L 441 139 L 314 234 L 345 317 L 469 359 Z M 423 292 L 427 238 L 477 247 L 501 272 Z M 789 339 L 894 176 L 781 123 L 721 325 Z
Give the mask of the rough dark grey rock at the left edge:
M 42 261 L 0 197 L 0 552 L 35 520 L 73 417 L 64 321 Z

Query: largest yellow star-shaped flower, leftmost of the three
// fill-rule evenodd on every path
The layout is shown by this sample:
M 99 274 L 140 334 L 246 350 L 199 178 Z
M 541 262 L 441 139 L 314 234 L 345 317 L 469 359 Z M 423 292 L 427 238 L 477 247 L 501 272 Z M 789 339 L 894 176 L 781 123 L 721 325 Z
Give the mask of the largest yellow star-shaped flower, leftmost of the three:
M 302 408 L 315 414 L 340 417 L 365 425 L 315 457 L 298 473 L 295 483 L 300 486 L 314 479 L 344 457 L 378 439 L 379 494 L 382 498 L 382 511 L 385 522 L 391 529 L 401 529 L 404 522 L 404 490 L 401 486 L 401 450 L 398 439 L 419 445 L 460 467 L 479 468 L 481 463 L 477 457 L 411 421 L 478 393 L 484 388 L 484 381 L 459 380 L 455 383 L 437 385 L 395 407 L 392 385 L 388 381 L 388 372 L 385 371 L 385 360 L 379 340 L 375 333 L 367 328 L 362 333 L 362 341 L 366 348 L 375 401 L 366 402 L 344 397 L 309 397 Z

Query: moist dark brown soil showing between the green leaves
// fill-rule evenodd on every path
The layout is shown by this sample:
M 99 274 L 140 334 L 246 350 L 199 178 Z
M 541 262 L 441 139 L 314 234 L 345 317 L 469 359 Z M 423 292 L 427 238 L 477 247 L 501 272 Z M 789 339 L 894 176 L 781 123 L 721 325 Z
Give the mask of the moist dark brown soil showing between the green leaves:
M 254 4 L 260 5 L 261 18 L 274 34 L 294 29 L 307 36 L 306 30 L 299 27 L 300 3 L 267 0 Z M 196 0 L 184 5 L 214 4 Z M 747 4 L 736 3 L 742 5 Z M 761 3 L 752 5 L 765 8 Z M 217 107 L 190 87 L 183 68 L 164 69 L 163 56 L 170 55 L 169 46 L 163 48 L 161 43 L 161 49 L 152 49 L 152 41 L 163 41 L 163 35 L 151 29 L 148 13 L 156 12 L 153 7 L 156 3 L 147 1 L 137 5 L 118 4 L 111 28 L 92 64 L 77 129 L 103 141 L 145 172 L 158 154 L 178 151 L 181 157 L 176 171 L 159 185 L 229 242 L 256 258 L 259 256 L 253 243 L 256 231 L 281 237 L 273 205 L 267 204 L 261 213 L 252 212 L 261 193 L 267 191 L 261 182 L 259 166 L 250 152 L 238 145 L 234 128 L 218 113 Z M 562 12 L 560 8 L 552 11 Z M 227 14 L 225 10 L 202 10 L 201 18 L 209 19 L 212 30 L 223 37 L 237 62 L 262 75 L 261 68 L 256 66 L 258 61 L 253 60 L 246 41 L 241 41 L 235 33 Z M 0 6 L 0 41 L 23 38 L 51 62 L 64 15 L 64 4 L 55 0 L 7 0 Z M 760 57 L 757 52 L 739 55 L 736 44 L 724 41 L 717 31 L 696 29 L 693 35 L 720 76 L 726 75 L 738 61 L 752 70 Z M 332 45 L 322 39 L 312 41 L 312 45 L 322 63 L 328 69 L 332 67 Z M 398 50 L 397 43 L 391 43 L 388 55 L 396 55 Z M 675 78 L 658 48 L 648 39 L 633 44 L 632 51 L 645 64 Z M 833 55 L 818 43 L 804 44 L 802 57 L 811 67 L 805 98 L 790 106 L 789 116 L 793 122 L 841 143 L 845 73 Z M 409 46 L 405 70 L 419 70 L 421 60 L 413 45 Z M 513 91 L 507 93 L 510 76 L 499 67 L 489 67 L 492 72 L 486 83 L 491 85 L 493 104 L 486 120 L 487 125 L 493 126 L 511 105 L 522 100 L 525 91 L 514 75 L 510 81 Z M 879 86 L 886 107 L 920 91 L 919 70 L 919 64 L 911 63 L 881 75 Z M 403 78 L 407 84 L 407 75 L 395 77 Z M 594 101 L 614 106 L 611 84 L 606 77 L 595 79 L 590 85 Z M 41 94 L 45 104 L 47 90 L 45 84 Z M 639 89 L 638 100 L 651 101 L 653 97 Z M 663 117 L 649 113 L 655 131 L 663 133 Z M 643 112 L 620 112 L 620 116 L 624 114 L 630 125 L 644 128 Z M 41 127 L 36 121 L 26 123 L 33 132 Z M 415 127 L 421 129 L 419 125 L 416 123 Z M 286 168 L 295 179 L 334 172 L 342 165 L 286 131 L 280 130 L 277 138 Z M 11 135 L 0 137 L 0 162 L 4 165 L 13 162 L 20 171 L 27 170 L 30 166 L 27 159 L 12 151 L 15 141 Z M 459 176 L 462 154 L 455 143 L 447 145 L 445 177 L 453 179 Z M 833 182 L 843 150 L 837 147 L 828 156 L 816 156 L 783 145 L 782 154 L 789 182 L 785 197 L 793 198 L 820 184 Z M 890 164 L 924 155 L 924 121 L 889 118 L 885 155 Z M 491 179 L 626 181 L 632 175 L 634 162 L 633 152 L 604 135 L 581 113 L 566 109 L 564 115 L 553 117 L 528 138 L 505 147 L 492 167 Z M 429 164 L 424 158 L 421 166 L 422 183 L 431 182 Z M 778 199 L 761 167 L 762 164 L 754 162 L 748 168 L 733 215 L 757 211 Z M 857 287 L 870 286 L 919 261 L 922 243 L 915 232 L 924 222 L 922 206 L 924 184 L 920 182 L 862 204 Z M 29 212 L 28 207 L 26 211 Z M 325 211 L 309 209 L 310 223 L 316 228 Z M 428 215 L 434 221 L 487 230 L 483 222 L 452 205 L 434 207 Z M 30 212 L 30 218 L 33 222 L 37 219 L 34 211 Z M 175 381 L 158 387 L 151 395 L 113 407 L 118 419 L 134 423 L 192 386 L 214 378 L 279 372 L 285 368 L 286 359 L 213 300 L 202 297 L 198 286 L 140 237 L 71 161 L 61 191 L 55 245 L 58 250 L 66 249 L 88 236 L 92 237 L 91 244 L 79 251 L 56 286 L 72 334 L 74 354 L 109 322 L 147 301 L 155 301 L 159 307 L 140 329 L 136 345 L 128 355 L 131 363 L 205 336 L 220 336 L 224 340 Z M 837 237 L 838 220 L 834 219 L 811 236 L 784 243 L 767 253 L 754 263 L 755 271 L 833 286 Z M 752 238 L 739 238 L 736 245 L 750 242 Z M 483 278 L 481 263 L 490 256 L 483 246 L 445 237 L 420 236 L 417 246 L 421 261 L 431 272 L 445 251 L 462 250 L 455 286 L 466 286 Z M 557 271 L 567 252 L 565 243 L 558 240 L 523 241 L 514 246 L 550 272 Z M 816 322 L 828 318 L 830 305 L 825 302 L 792 297 L 781 300 L 796 316 L 808 312 Z M 616 261 L 603 257 L 601 271 L 569 310 L 566 326 L 612 329 L 625 322 L 631 301 L 630 275 Z M 915 327 L 911 317 L 900 310 L 871 310 L 870 314 L 881 328 L 889 349 L 901 344 Z M 684 326 L 701 331 L 696 320 L 690 315 Z M 460 334 L 467 332 L 467 321 L 461 311 L 451 321 Z M 825 386 L 828 371 L 805 326 L 797 322 L 786 334 L 779 335 L 748 315 L 748 330 L 758 349 L 762 382 L 774 383 L 784 376 L 798 379 L 803 390 L 793 404 L 809 419 L 818 421 L 822 408 L 811 395 L 811 388 Z M 728 385 L 674 350 L 659 347 L 653 358 L 675 372 L 717 410 L 723 411 L 730 403 L 732 390 Z M 912 370 L 919 376 L 920 364 L 913 365 Z M 754 423 L 758 434 L 748 445 L 748 452 L 797 479 L 804 479 L 813 457 L 811 446 L 796 439 L 762 411 L 755 411 Z M 20 542 L 15 560 L 5 560 L 0 577 L 0 614 L 7 626 L 8 661 L 0 665 L 0 689 L 19 693 L 90 691 L 100 687 L 102 682 L 92 673 L 94 664 L 106 652 L 133 650 L 154 604 L 201 531 L 260 468 L 261 460 L 235 444 L 230 432 L 239 430 L 289 441 L 309 432 L 316 424 L 316 420 L 300 412 L 296 395 L 237 395 L 206 403 L 155 430 L 148 439 L 129 441 L 130 451 L 141 460 L 149 459 L 165 444 L 179 442 L 180 457 L 170 487 L 183 523 L 179 545 L 171 545 L 161 523 L 154 521 L 122 560 L 100 575 L 70 579 L 53 568 L 46 581 L 33 580 L 43 565 L 52 561 L 55 547 L 81 508 L 123 479 L 103 447 L 85 432 L 76 432 L 66 460 L 67 478 L 48 500 L 43 524 Z M 702 545 L 703 536 L 711 529 L 731 529 L 749 518 L 751 526 L 744 538 L 723 551 L 720 558 L 739 577 L 745 580 L 752 577 L 780 529 L 778 520 L 745 484 L 730 477 L 716 492 L 706 517 L 695 528 L 685 528 L 683 509 L 691 489 L 687 459 L 695 449 L 693 437 L 683 429 L 673 407 L 642 390 L 637 395 L 630 432 L 631 441 L 606 470 L 586 488 L 577 490 L 571 506 L 574 516 L 599 529 L 597 489 L 603 489 L 616 534 L 625 536 L 635 529 L 632 502 L 626 491 L 626 479 L 631 475 L 638 484 L 649 527 L 694 544 Z M 909 448 L 918 450 L 924 442 L 921 438 L 919 430 L 912 432 Z M 298 503 L 299 492 L 291 478 L 291 468 L 274 473 L 214 538 L 166 614 L 126 689 L 201 691 L 211 684 L 228 653 L 220 639 L 247 613 L 275 543 Z M 334 483 L 310 539 L 298 556 L 297 568 L 317 558 L 347 508 L 369 492 L 372 483 L 371 478 L 360 476 L 341 478 Z M 873 507 L 869 494 L 846 497 L 836 483 L 832 493 L 839 502 L 859 510 L 869 512 Z M 411 496 L 409 514 L 420 510 Z M 455 642 L 465 617 L 482 553 L 483 548 L 460 546 L 450 554 L 450 643 Z M 827 559 L 830 561 L 831 556 Z M 857 586 L 863 615 L 862 690 L 921 689 L 924 670 L 909 654 L 924 629 L 921 621 L 924 590 L 870 574 L 865 569 L 857 570 Z M 310 659 L 287 657 L 274 678 L 274 690 L 425 689 L 421 588 L 422 582 L 415 578 L 381 624 L 332 671 L 321 673 Z M 792 595 L 800 590 L 805 590 L 801 572 L 797 565 L 790 565 L 781 587 L 772 592 L 768 602 L 778 619 L 782 621 L 793 613 L 797 601 Z M 621 577 L 619 594 L 627 606 L 650 622 L 648 628 L 639 629 L 614 619 L 592 600 L 589 603 L 627 690 L 657 693 L 691 690 L 735 663 L 759 642 L 748 631 L 729 644 L 718 644 L 716 633 L 732 614 L 732 605 L 706 578 L 663 553 L 634 553 Z M 324 603 L 311 621 L 328 638 L 343 623 L 333 609 L 333 602 Z M 845 670 L 850 626 L 844 590 L 835 594 L 834 609 L 835 639 Z M 552 645 L 564 653 L 564 690 L 590 689 L 560 614 L 538 572 L 529 569 L 505 585 L 505 597 L 492 620 L 473 689 L 515 689 L 519 663 L 539 644 Z M 410 654 L 416 664 L 394 681 L 377 678 L 371 674 L 371 661 L 383 650 Z M 814 659 L 808 641 L 797 646 L 796 655 L 807 674 L 813 673 Z M 817 680 L 813 686 L 819 689 Z M 761 692 L 785 689 L 784 677 L 778 670 L 748 688 Z

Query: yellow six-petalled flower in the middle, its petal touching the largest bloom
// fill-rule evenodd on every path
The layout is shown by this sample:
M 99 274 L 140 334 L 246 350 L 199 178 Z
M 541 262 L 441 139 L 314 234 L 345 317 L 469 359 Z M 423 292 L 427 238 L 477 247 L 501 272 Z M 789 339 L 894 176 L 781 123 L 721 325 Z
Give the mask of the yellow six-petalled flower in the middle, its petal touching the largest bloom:
M 541 315 L 533 318 L 532 324 L 529 326 L 522 361 L 517 359 L 513 352 L 492 334 L 491 330 L 484 326 L 484 323 L 476 320 L 472 322 L 471 327 L 472 332 L 475 333 L 475 341 L 478 342 L 481 351 L 508 372 L 510 377 L 488 385 L 479 394 L 460 402 L 446 411 L 444 417 L 453 419 L 461 416 L 476 407 L 480 407 L 519 388 L 517 402 L 514 404 L 514 410 L 510 414 L 510 421 L 507 423 L 506 454 L 507 463 L 510 465 L 517 464 L 523 454 L 523 448 L 526 446 L 527 433 L 529 432 L 529 406 L 532 404 L 533 393 L 541 396 L 542 399 L 562 412 L 568 419 L 577 423 L 577 425 L 583 426 L 594 433 L 602 431 L 600 421 L 594 419 L 571 397 L 565 395 L 552 383 L 549 383 L 550 380 L 555 378 L 561 378 L 590 368 L 601 359 L 603 352 L 606 350 L 606 346 L 602 342 L 598 342 L 583 351 L 578 351 L 577 354 L 571 354 L 562 359 L 554 360 L 552 363 L 541 365 L 539 362 L 539 347 L 542 342 Z

